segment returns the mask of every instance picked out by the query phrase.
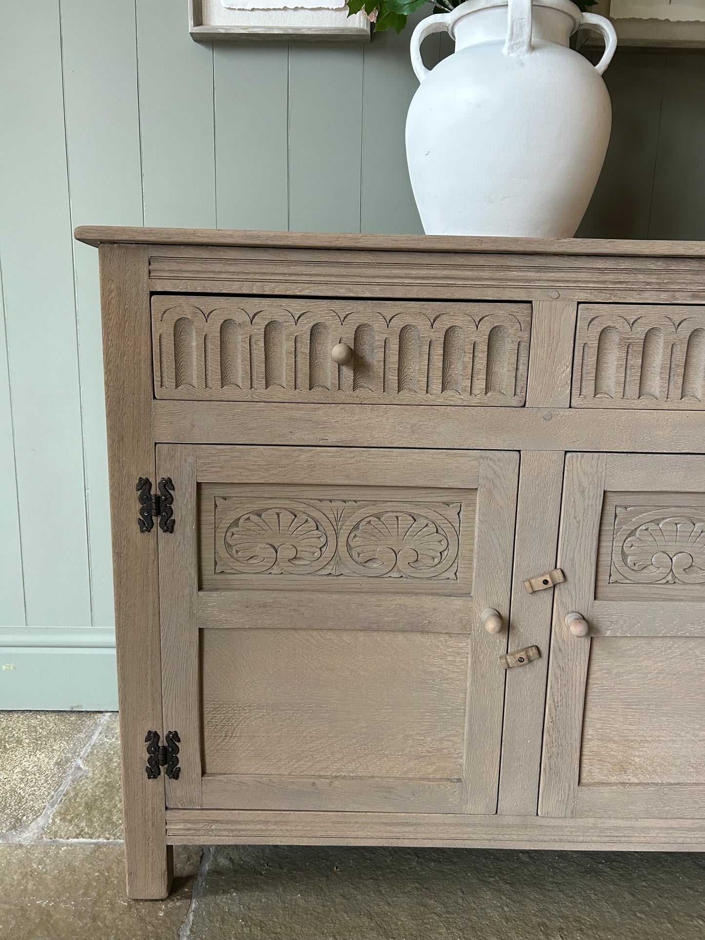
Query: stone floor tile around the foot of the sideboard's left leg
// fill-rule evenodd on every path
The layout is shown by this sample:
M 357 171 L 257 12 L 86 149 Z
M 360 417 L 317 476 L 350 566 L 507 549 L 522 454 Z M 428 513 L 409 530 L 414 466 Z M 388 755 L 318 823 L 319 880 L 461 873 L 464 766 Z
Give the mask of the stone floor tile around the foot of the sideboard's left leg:
M 121 845 L 0 845 L 0 940 L 179 940 L 199 849 L 165 901 L 128 901 Z

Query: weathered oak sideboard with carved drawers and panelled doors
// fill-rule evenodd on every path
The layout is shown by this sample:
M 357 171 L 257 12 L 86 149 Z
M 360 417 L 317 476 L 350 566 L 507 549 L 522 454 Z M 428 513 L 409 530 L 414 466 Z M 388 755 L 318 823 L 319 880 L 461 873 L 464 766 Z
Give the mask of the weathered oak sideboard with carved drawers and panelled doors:
M 128 892 L 705 847 L 705 244 L 82 227 Z

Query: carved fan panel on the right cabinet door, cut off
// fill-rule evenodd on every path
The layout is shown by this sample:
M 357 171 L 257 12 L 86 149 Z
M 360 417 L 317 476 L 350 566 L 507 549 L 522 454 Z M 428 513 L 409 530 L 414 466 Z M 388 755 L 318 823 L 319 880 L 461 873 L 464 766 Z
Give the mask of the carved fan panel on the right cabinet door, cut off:
M 705 514 L 618 506 L 611 584 L 705 584 Z

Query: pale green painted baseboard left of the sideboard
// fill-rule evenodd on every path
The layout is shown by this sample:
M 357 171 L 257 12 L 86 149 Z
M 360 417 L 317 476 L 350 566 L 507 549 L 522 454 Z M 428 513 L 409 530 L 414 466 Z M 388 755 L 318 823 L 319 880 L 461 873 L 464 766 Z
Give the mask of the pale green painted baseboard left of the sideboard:
M 118 709 L 115 633 L 0 627 L 0 710 Z

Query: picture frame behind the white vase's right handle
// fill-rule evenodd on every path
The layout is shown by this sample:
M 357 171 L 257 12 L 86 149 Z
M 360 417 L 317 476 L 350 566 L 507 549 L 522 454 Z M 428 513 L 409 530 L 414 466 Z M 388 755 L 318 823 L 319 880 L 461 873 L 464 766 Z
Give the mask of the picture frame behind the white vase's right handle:
M 697 14 L 697 19 L 679 17 Z M 665 15 L 672 8 L 674 19 Z M 633 10 L 635 16 L 625 16 Z M 654 16 L 650 16 L 651 10 Z M 607 16 L 617 31 L 619 46 L 637 49 L 703 49 L 705 48 L 705 4 L 699 0 L 598 0 L 590 13 Z M 594 33 L 585 34 L 589 46 L 597 44 Z

